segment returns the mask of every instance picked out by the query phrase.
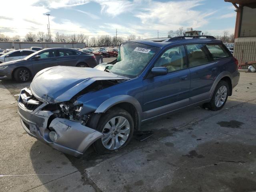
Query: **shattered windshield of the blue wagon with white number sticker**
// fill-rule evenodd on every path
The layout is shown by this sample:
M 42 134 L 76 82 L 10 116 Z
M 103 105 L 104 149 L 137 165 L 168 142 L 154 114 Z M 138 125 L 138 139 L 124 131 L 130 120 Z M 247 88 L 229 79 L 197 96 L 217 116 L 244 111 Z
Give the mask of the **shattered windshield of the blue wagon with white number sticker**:
M 137 77 L 147 66 L 148 62 L 158 52 L 159 48 L 136 42 L 125 42 L 120 46 L 118 62 L 108 71 L 128 78 Z

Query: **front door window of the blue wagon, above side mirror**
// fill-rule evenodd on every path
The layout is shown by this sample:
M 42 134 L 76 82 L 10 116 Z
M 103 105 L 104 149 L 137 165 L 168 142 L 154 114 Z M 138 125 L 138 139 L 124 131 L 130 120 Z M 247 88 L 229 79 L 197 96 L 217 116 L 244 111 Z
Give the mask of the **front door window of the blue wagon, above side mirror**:
M 187 68 L 184 46 L 172 47 L 156 61 L 154 67 L 166 67 L 168 73 Z

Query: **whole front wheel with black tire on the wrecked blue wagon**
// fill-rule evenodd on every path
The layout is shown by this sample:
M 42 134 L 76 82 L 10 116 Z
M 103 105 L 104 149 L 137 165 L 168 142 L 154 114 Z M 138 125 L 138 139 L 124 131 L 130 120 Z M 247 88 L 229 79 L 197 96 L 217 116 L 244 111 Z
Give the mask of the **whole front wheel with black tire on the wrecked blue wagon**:
M 114 122 L 114 126 L 111 122 Z M 123 126 L 116 127 L 118 124 Z M 105 135 L 94 142 L 94 150 L 98 154 L 108 154 L 124 148 L 130 142 L 134 132 L 134 121 L 126 110 L 116 107 L 100 117 L 96 130 Z

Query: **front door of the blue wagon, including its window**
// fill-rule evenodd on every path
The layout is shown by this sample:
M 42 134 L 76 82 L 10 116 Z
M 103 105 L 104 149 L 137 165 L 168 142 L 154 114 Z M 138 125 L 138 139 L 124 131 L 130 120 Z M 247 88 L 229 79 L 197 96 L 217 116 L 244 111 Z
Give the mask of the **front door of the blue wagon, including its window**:
M 184 46 L 166 50 L 154 67 L 166 67 L 168 74 L 143 80 L 144 119 L 181 108 L 189 101 L 190 70 L 187 68 Z

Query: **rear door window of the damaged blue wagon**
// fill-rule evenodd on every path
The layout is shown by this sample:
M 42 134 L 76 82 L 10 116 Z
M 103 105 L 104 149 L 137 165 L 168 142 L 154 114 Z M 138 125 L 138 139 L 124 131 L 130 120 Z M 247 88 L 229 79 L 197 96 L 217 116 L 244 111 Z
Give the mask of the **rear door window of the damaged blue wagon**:
M 190 67 L 203 65 L 212 61 L 205 44 L 189 44 L 186 45 L 186 48 Z

